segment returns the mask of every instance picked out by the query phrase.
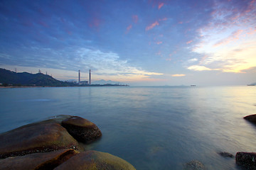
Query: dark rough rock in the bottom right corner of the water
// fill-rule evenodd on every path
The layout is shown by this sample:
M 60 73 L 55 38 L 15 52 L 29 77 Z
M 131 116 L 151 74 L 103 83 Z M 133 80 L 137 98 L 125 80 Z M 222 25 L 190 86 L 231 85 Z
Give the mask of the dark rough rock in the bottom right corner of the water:
M 256 169 L 256 152 L 238 152 L 235 163 L 245 169 Z

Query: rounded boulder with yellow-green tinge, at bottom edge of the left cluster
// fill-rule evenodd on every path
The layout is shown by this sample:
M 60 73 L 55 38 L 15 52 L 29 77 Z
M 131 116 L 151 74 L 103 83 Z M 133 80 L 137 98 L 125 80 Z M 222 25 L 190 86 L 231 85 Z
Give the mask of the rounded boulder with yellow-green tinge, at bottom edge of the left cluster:
M 87 151 L 80 154 L 76 154 L 74 157 L 68 159 L 67 162 L 60 164 L 55 170 L 65 169 L 122 169 L 122 170 L 134 170 L 134 166 L 129 162 L 124 161 L 119 157 L 115 157 L 112 154 L 97 151 Z

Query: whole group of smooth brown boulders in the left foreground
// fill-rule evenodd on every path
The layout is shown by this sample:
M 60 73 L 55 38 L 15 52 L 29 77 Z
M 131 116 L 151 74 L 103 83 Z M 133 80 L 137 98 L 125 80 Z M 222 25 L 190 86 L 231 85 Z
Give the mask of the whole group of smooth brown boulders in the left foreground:
M 0 169 L 134 169 L 124 159 L 79 145 L 101 136 L 97 125 L 78 116 L 24 125 L 0 135 Z

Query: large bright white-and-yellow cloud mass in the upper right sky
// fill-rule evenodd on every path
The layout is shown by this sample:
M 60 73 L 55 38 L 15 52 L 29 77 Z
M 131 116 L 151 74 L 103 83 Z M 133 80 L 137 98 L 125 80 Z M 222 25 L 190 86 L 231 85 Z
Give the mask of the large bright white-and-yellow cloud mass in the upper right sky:
M 203 57 L 188 69 L 242 73 L 256 67 L 256 4 L 251 2 L 215 1 L 211 20 L 198 29 L 192 45 Z

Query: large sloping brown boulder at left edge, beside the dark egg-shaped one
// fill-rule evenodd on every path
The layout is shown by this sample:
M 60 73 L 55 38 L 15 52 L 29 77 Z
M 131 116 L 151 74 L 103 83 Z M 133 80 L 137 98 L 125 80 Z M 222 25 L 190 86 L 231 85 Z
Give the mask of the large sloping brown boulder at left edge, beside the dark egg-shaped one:
M 81 149 L 68 131 L 58 123 L 32 123 L 0 135 L 0 158 L 58 149 Z

